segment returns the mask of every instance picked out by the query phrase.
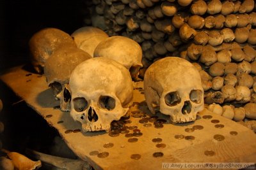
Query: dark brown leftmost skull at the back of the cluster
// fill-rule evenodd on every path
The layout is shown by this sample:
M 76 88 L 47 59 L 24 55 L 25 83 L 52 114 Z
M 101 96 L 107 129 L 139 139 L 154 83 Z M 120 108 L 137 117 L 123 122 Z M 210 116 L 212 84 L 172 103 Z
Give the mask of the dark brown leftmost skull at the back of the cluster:
M 71 36 L 60 29 L 45 28 L 33 34 L 29 39 L 29 50 L 37 73 L 44 73 L 45 61 L 63 45 L 76 47 Z

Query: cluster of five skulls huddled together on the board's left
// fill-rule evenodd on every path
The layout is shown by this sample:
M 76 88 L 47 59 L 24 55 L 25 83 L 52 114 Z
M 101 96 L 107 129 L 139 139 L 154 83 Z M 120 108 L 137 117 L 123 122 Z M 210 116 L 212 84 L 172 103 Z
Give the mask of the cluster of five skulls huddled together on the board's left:
M 44 74 L 60 109 L 70 111 L 83 131 L 108 131 L 132 104 L 132 79 L 138 79 L 142 50 L 124 36 L 108 37 L 96 27 L 71 36 L 54 28 L 29 41 L 32 64 Z M 39 69 L 40 68 L 40 69 Z

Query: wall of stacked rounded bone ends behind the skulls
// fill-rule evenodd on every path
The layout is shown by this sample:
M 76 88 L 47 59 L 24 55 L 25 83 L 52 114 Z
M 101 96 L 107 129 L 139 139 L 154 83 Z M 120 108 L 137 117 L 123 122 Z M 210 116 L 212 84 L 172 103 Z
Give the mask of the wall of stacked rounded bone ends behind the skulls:
M 193 62 L 202 77 L 205 103 L 232 104 L 234 113 L 225 106 L 223 116 L 239 121 L 244 113 L 256 119 L 255 9 L 253 0 L 93 0 L 91 16 L 92 25 L 109 36 L 140 43 L 141 77 L 152 62 L 166 56 Z M 239 107 L 244 113 L 235 109 Z

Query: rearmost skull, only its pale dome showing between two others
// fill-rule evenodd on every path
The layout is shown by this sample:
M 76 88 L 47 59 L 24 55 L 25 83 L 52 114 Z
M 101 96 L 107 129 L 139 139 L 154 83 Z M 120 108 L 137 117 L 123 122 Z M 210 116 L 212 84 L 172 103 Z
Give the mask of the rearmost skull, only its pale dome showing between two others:
M 88 52 L 92 56 L 96 46 L 108 38 L 108 34 L 96 27 L 81 27 L 73 32 L 71 36 L 78 48 Z

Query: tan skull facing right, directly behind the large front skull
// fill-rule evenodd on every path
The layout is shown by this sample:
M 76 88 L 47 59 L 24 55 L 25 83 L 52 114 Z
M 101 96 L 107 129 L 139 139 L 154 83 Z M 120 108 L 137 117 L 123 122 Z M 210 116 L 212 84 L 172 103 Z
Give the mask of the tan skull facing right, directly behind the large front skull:
M 106 57 L 121 63 L 131 72 L 132 78 L 138 76 L 142 67 L 141 46 L 124 36 L 112 36 L 101 41 L 95 48 L 93 57 Z

